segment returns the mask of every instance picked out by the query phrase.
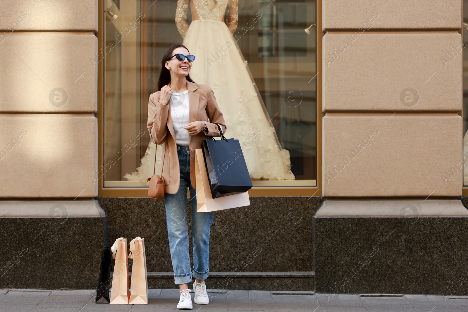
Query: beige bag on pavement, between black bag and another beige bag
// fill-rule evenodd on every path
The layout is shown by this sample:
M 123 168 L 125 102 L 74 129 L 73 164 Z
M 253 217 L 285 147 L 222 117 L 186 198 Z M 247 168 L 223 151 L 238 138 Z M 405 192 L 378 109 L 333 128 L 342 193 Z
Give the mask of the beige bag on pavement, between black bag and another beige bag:
M 117 250 L 115 250 L 117 248 Z M 128 290 L 128 252 L 127 239 L 120 238 L 111 247 L 112 256 L 115 254 L 114 275 L 110 289 L 110 304 L 128 305 L 130 291 Z M 116 252 L 115 252 L 116 251 Z

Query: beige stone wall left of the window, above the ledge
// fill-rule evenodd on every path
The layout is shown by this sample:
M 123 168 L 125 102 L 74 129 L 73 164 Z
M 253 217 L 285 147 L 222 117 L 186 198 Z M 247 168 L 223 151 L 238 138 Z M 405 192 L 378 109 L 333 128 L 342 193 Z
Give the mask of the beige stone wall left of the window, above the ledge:
M 97 196 L 97 4 L 0 2 L 1 198 Z

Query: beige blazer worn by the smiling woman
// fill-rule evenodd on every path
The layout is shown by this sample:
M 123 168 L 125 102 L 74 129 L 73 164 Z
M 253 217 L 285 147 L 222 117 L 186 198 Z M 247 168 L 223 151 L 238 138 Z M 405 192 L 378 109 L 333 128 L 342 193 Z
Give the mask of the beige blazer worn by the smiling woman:
M 189 135 L 190 183 L 195 188 L 195 149 L 201 148 L 202 141 L 206 136 L 220 136 L 215 123 L 218 123 L 223 129 L 223 133 L 225 133 L 226 122 L 210 86 L 187 81 L 187 88 L 189 89 L 189 122 L 203 120 L 208 128 L 205 132 L 193 136 Z M 148 131 L 153 143 L 165 143 L 162 151 L 165 155 L 162 173 L 166 184 L 165 193 L 175 194 L 180 185 L 179 156 L 177 155 L 176 136 L 172 126 L 170 105 L 159 102 L 160 93 L 161 91 L 158 91 L 149 96 Z

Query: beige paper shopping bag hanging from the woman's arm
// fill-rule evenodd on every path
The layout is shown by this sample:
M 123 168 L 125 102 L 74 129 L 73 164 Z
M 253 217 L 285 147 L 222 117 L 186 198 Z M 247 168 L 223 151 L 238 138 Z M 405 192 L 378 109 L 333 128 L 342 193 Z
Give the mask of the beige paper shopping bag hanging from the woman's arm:
M 197 211 L 209 212 L 250 206 L 249 192 L 213 198 L 201 149 L 195 150 L 195 188 L 197 190 Z

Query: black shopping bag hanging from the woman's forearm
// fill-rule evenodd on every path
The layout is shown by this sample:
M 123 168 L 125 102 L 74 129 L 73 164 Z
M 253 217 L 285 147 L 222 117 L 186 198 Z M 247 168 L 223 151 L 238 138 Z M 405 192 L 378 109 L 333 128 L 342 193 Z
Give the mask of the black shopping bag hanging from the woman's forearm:
M 202 143 L 212 197 L 245 193 L 252 188 L 252 181 L 239 140 L 225 138 L 216 125 L 222 139 L 209 138 Z

